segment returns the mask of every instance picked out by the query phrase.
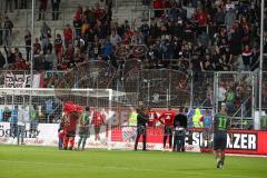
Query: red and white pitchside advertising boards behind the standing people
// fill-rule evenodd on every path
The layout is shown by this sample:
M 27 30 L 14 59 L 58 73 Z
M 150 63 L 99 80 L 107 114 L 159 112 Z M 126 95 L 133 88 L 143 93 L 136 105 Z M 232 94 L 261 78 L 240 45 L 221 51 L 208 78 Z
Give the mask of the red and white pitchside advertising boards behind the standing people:
M 26 127 L 24 144 L 33 146 L 57 146 L 58 144 L 58 123 L 40 123 L 38 130 L 29 131 L 29 125 Z M 113 127 L 111 130 L 111 141 L 108 142 L 108 129 L 101 127 L 100 141 L 95 141 L 95 129 L 90 128 L 90 138 L 87 141 L 87 148 L 107 148 L 111 149 L 132 149 L 136 137 L 135 127 Z M 234 140 L 227 144 L 229 154 L 267 154 L 267 131 L 233 130 Z M 211 136 L 212 137 L 212 136 Z M 76 137 L 78 141 L 79 137 Z M 162 149 L 162 128 L 148 128 L 147 148 L 149 150 Z M 0 144 L 17 144 L 17 139 L 10 137 L 10 123 L 0 122 Z M 187 151 L 210 151 L 211 141 L 204 139 L 201 129 L 191 129 L 187 132 Z M 141 140 L 139 146 L 141 147 Z

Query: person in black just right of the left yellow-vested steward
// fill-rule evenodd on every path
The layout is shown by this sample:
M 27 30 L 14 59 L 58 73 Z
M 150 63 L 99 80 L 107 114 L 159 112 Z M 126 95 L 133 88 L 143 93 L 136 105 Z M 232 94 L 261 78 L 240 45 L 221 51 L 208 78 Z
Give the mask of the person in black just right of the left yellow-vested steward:
M 144 151 L 146 150 L 148 118 L 149 116 L 147 115 L 147 111 L 144 108 L 137 109 L 137 137 L 135 142 L 135 150 L 137 150 L 138 140 L 141 135 L 142 135 L 142 150 Z

